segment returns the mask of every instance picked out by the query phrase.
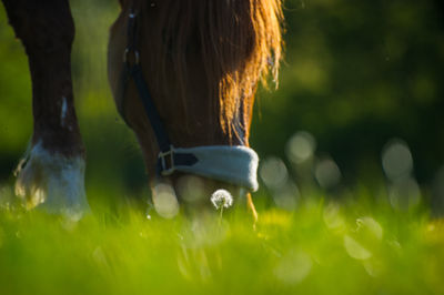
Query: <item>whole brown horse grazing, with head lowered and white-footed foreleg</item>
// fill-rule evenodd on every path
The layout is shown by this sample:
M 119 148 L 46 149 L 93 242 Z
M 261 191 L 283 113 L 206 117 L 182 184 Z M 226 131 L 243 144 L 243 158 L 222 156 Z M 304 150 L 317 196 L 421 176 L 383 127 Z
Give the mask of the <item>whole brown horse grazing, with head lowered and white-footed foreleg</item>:
M 17 169 L 28 208 L 78 216 L 89 211 L 85 149 L 73 104 L 68 0 L 2 0 L 32 81 L 33 134 Z M 153 196 L 183 179 L 202 195 L 258 189 L 249 146 L 254 96 L 282 59 L 281 0 L 120 0 L 108 75 L 117 109 L 141 146 Z M 191 176 L 190 176 L 191 175 Z M 182 183 L 182 184 L 181 184 Z M 186 186 L 186 185 L 185 185 Z M 158 193 L 159 194 L 159 193 Z M 155 200 L 154 200 L 155 201 Z

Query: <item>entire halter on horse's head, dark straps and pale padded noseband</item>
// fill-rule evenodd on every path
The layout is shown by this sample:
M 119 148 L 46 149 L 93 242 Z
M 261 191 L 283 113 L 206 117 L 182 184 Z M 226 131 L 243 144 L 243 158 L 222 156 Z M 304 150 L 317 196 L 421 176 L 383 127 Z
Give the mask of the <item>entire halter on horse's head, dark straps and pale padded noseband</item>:
M 143 77 L 140 65 L 140 53 L 137 49 L 137 13 L 133 9 L 130 9 L 128 19 L 128 45 L 123 53 L 121 100 L 118 110 L 127 124 L 130 125 L 125 118 L 124 95 L 129 81 L 133 80 L 160 149 L 155 167 L 157 176 L 169 176 L 175 171 L 181 171 L 256 191 L 259 159 L 252 149 L 229 145 L 210 145 L 189 149 L 175 149 L 173 146 L 163 128 L 162 120 L 157 112 L 149 87 L 145 82 L 147 80 Z M 132 57 L 132 62 L 130 61 L 130 54 Z

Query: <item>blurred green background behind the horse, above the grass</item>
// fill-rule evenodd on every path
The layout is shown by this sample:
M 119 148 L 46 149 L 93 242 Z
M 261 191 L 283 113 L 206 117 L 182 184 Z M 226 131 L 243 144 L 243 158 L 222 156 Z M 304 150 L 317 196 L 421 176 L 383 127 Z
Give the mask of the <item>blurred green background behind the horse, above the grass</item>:
M 117 2 L 71 0 L 74 95 L 90 196 L 148 191 L 139 148 L 107 81 Z M 280 88 L 260 91 L 251 132 L 264 163 L 262 190 L 290 185 L 303 194 L 316 186 L 334 195 L 401 183 L 401 194 L 421 186 L 427 203 L 443 206 L 444 3 L 289 0 L 284 7 Z M 31 132 L 27 58 L 0 6 L 0 184 L 13 183 Z

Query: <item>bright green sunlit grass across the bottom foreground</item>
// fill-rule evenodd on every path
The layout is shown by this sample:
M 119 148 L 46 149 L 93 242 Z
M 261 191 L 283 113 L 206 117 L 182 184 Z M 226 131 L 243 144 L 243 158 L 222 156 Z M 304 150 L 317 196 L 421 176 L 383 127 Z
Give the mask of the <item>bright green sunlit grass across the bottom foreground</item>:
M 1 294 L 444 294 L 444 223 L 421 207 L 260 202 L 253 228 L 239 204 L 163 220 L 95 202 L 71 223 L 1 194 Z

